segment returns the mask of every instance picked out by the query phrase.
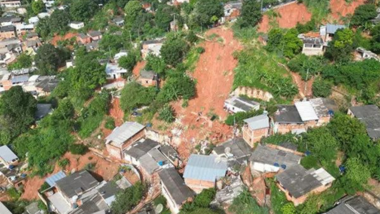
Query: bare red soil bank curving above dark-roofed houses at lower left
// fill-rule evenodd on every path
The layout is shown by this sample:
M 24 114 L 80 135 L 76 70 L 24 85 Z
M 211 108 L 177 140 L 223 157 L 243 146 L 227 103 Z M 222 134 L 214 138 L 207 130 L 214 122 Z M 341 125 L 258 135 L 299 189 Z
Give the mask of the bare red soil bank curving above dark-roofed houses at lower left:
M 91 158 L 90 158 L 91 157 Z M 87 154 L 73 155 L 71 153 L 66 153 L 62 159 L 70 160 L 70 164 L 65 168 L 65 172 L 68 173 L 71 170 L 75 169 L 75 171 L 83 169 L 88 163 L 95 163 L 94 173 L 102 177 L 104 180 L 110 180 L 117 173 L 119 164 L 111 163 L 107 160 L 104 160 L 98 156 L 96 156 L 92 152 L 88 152 Z M 90 160 L 91 159 L 91 160 Z M 62 170 L 58 164 L 55 165 L 54 171 L 52 174 Z M 40 189 L 41 185 L 45 182 L 45 179 L 50 176 L 41 178 L 39 176 L 34 176 L 33 178 L 28 178 L 25 184 L 24 193 L 21 198 L 26 200 L 34 200 L 38 199 L 37 191 Z

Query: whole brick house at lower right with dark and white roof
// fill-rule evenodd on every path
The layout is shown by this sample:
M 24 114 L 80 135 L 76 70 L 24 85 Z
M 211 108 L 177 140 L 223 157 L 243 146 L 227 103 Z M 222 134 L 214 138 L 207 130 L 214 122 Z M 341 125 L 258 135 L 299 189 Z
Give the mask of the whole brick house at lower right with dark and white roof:
M 324 168 L 307 170 L 298 164 L 288 167 L 275 178 L 286 199 L 295 206 L 305 202 L 310 194 L 327 190 L 335 180 Z

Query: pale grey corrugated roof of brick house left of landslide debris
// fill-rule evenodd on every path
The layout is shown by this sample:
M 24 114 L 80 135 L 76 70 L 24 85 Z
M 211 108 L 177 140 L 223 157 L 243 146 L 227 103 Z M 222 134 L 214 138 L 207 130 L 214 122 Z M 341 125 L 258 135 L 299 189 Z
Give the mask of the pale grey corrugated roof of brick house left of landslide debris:
M 116 146 L 121 146 L 144 128 L 145 126 L 138 122 L 125 122 L 123 125 L 116 127 L 105 139 L 107 143 L 112 141 Z

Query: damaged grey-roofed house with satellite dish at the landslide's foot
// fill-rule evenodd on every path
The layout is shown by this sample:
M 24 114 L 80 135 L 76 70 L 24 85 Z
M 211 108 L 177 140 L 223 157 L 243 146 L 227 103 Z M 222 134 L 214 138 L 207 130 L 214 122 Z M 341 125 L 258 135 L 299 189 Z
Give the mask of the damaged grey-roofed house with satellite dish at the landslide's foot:
M 251 148 L 241 138 L 234 138 L 216 146 L 212 154 L 228 160 L 228 166 L 247 165 Z

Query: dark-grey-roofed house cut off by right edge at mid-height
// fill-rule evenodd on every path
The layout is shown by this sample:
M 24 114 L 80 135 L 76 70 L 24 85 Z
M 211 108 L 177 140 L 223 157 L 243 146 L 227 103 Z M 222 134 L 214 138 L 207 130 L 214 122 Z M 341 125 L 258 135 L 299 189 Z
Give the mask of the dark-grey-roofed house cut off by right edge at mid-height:
M 367 129 L 367 134 L 371 139 L 380 138 L 380 109 L 376 105 L 348 108 L 347 114 L 358 118 Z

